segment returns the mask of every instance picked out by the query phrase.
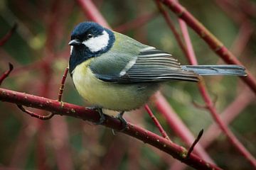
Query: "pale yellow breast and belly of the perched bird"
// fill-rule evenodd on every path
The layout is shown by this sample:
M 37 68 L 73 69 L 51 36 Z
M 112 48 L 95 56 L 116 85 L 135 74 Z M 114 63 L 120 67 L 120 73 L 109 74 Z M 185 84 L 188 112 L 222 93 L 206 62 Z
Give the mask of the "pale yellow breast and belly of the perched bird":
M 156 91 L 156 84 L 114 84 L 97 79 L 89 64 L 93 58 L 75 67 L 73 82 L 78 93 L 92 105 L 114 111 L 130 111 L 142 106 Z

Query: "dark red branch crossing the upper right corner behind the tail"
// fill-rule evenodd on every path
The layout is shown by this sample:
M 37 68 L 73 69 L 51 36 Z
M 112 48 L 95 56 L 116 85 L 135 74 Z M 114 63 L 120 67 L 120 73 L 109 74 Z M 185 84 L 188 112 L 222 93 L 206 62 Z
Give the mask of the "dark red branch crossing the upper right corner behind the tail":
M 200 37 L 206 41 L 210 48 L 219 55 L 228 64 L 242 63 L 218 40 L 208 29 L 206 29 L 190 12 L 186 10 L 181 4 L 178 4 L 175 0 L 162 0 L 162 3 L 166 4 L 171 11 L 176 13 L 179 18 L 182 18 L 188 26 L 195 30 Z M 245 83 L 250 86 L 250 89 L 256 94 L 256 79 L 252 77 L 252 74 L 247 70 L 247 77 L 240 77 Z

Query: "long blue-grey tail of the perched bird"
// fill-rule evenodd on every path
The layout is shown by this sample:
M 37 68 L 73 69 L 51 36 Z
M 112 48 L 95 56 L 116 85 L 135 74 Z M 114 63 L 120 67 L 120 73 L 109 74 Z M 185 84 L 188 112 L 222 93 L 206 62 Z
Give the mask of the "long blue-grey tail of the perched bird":
M 245 67 L 240 65 L 183 65 L 182 69 L 196 72 L 199 75 L 246 76 Z

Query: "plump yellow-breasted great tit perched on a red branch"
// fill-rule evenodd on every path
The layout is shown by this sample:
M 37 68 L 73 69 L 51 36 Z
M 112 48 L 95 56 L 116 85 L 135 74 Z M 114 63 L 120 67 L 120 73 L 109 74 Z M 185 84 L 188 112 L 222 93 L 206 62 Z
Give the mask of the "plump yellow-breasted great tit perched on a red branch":
M 105 121 L 102 108 L 125 111 L 143 106 L 168 81 L 199 81 L 202 75 L 245 76 L 240 65 L 181 65 L 169 52 L 144 45 L 100 24 L 85 21 L 71 33 L 69 72 L 78 94 Z

